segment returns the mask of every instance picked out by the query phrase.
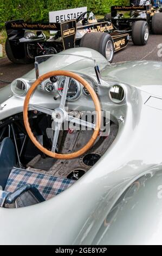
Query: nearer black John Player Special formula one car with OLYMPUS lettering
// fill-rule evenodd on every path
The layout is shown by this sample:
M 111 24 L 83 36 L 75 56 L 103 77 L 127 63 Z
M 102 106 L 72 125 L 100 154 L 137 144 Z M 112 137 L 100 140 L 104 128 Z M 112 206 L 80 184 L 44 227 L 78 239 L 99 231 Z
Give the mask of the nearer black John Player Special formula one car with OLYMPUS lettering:
M 36 56 L 81 46 L 100 52 L 111 63 L 114 52 L 127 46 L 130 35 L 137 37 L 138 45 L 147 43 L 147 22 L 138 25 L 140 34 L 137 34 L 134 28 L 116 29 L 111 21 L 96 20 L 93 13 L 88 18 L 85 16 L 87 13 L 81 14 L 76 20 L 62 23 L 29 23 L 24 20 L 5 22 L 8 34 L 5 50 L 8 58 L 14 63 L 27 64 L 34 62 Z M 47 37 L 43 31 L 56 33 Z M 143 40 L 139 43 L 141 35 Z

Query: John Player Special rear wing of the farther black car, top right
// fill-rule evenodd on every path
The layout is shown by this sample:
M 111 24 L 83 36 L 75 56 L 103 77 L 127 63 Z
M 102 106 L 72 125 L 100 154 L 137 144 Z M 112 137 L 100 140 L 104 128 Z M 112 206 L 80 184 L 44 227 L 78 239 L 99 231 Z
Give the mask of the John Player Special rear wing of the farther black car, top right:
M 111 14 L 112 14 L 112 19 L 116 17 L 119 11 L 122 12 L 127 12 L 127 11 L 136 11 L 136 10 L 141 10 L 141 11 L 150 11 L 152 8 L 152 5 L 130 5 L 130 6 L 121 6 L 121 5 L 114 5 L 111 7 Z

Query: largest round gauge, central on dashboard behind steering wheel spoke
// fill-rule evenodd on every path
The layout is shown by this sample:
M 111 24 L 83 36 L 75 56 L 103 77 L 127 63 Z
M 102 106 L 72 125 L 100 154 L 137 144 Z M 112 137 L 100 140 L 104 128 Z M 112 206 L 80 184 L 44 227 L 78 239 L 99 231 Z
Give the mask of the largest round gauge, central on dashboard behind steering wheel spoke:
M 61 78 L 59 82 L 59 93 L 62 95 L 62 90 L 64 87 L 65 77 Z M 75 100 L 77 97 L 80 96 L 80 83 L 74 80 L 73 78 L 69 78 L 69 85 L 68 85 L 68 92 L 67 92 L 67 100 Z

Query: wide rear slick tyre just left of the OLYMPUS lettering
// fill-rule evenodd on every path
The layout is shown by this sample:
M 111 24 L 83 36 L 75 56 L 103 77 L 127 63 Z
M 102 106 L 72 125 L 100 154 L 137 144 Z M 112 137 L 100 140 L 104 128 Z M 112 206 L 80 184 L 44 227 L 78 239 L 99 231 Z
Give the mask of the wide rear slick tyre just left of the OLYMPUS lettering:
M 80 41 L 81 47 L 91 48 L 100 52 L 109 63 L 114 58 L 114 42 L 112 36 L 108 33 L 92 32 L 83 35 Z

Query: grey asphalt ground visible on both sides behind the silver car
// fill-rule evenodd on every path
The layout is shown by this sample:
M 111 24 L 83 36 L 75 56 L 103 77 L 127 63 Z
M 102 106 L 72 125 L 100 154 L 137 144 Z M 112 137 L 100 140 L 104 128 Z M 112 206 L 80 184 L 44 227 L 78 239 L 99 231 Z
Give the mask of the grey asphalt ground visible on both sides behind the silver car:
M 115 53 L 113 63 L 128 60 L 162 61 L 162 35 L 150 35 L 148 43 L 145 46 L 135 46 L 132 41 L 130 41 L 124 50 Z M 10 62 L 7 57 L 0 58 L 0 80 L 11 82 L 33 68 L 34 64 L 14 64 Z M 4 87 L 6 84 L 7 83 L 0 81 L 0 88 Z

